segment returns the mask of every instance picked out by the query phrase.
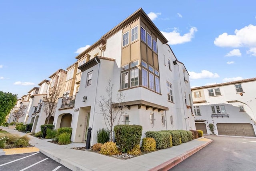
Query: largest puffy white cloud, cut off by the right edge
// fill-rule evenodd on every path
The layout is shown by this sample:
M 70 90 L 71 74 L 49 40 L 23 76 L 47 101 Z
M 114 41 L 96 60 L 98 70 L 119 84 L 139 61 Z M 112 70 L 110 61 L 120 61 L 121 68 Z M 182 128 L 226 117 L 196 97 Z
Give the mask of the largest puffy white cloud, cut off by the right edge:
M 215 38 L 214 44 L 220 47 L 255 47 L 256 45 L 256 26 L 250 24 L 240 30 L 235 30 L 233 35 L 223 33 Z

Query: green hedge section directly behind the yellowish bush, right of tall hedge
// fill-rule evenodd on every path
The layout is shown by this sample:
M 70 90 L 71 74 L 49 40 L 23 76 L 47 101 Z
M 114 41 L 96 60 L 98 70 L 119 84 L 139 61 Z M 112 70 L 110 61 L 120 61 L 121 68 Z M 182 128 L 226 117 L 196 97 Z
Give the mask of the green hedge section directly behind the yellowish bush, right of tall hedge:
M 166 131 L 147 131 L 146 137 L 154 138 L 156 141 L 157 149 L 165 149 L 172 147 L 172 137 L 169 132 Z

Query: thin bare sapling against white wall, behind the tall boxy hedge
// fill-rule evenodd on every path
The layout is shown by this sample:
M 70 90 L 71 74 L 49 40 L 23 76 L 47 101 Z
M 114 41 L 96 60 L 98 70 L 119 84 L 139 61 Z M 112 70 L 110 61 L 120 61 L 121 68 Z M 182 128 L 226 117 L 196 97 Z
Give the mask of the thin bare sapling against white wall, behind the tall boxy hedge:
M 98 101 L 98 106 L 100 107 L 100 112 L 104 117 L 105 125 L 110 131 L 110 141 L 113 141 L 112 132 L 115 121 L 116 124 L 119 125 L 120 119 L 124 114 L 124 105 L 122 105 L 122 102 L 124 101 L 124 95 L 122 92 L 117 94 L 117 103 L 114 107 L 112 98 L 113 86 L 114 84 L 111 84 L 111 79 L 109 79 L 108 85 L 106 86 L 106 93 L 108 97 L 105 98 L 104 96 L 100 96 L 101 100 Z

